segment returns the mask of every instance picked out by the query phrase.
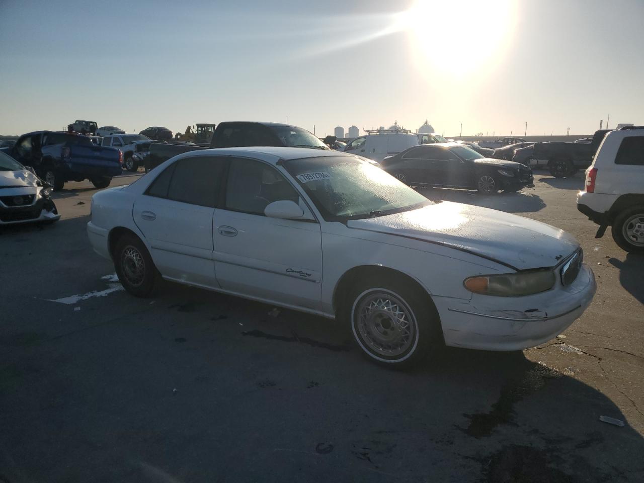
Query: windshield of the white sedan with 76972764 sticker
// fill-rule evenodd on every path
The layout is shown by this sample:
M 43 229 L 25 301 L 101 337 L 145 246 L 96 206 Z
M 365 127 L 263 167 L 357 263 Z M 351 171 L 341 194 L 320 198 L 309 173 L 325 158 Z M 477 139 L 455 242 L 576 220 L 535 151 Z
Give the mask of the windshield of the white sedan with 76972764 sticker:
M 354 156 L 303 158 L 284 163 L 327 222 L 417 209 L 431 202 L 379 167 Z

